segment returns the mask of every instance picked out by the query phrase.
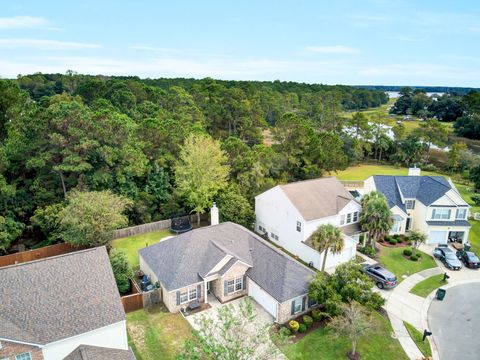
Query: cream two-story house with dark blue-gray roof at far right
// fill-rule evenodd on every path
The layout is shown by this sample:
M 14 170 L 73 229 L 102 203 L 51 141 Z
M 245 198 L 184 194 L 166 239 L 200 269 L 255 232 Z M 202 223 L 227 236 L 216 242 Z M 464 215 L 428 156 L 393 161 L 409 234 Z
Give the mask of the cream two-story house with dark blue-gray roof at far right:
M 377 190 L 385 195 L 393 217 L 390 234 L 419 230 L 427 244 L 466 242 L 470 231 L 470 206 L 450 179 L 422 176 L 409 169 L 408 176 L 374 175 L 365 180 L 364 193 Z

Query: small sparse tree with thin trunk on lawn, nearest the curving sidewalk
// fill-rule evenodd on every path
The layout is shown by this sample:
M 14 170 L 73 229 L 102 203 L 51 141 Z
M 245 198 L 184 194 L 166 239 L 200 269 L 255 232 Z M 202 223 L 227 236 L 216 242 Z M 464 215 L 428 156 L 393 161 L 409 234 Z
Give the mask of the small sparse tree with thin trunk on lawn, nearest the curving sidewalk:
M 330 320 L 328 327 L 333 330 L 333 336 L 345 336 L 351 343 L 352 348 L 348 353 L 350 359 L 359 359 L 357 353 L 358 341 L 368 335 L 373 329 L 373 322 L 370 314 L 356 302 L 342 304 L 342 313 Z

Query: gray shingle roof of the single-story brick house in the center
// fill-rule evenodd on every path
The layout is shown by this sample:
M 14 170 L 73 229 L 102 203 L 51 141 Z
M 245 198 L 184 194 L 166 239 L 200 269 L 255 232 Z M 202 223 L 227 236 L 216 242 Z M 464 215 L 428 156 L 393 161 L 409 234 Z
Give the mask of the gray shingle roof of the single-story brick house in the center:
M 223 253 L 210 253 L 208 249 L 212 248 Z M 314 274 L 258 235 L 231 222 L 192 230 L 141 249 L 139 254 L 168 291 L 202 281 L 198 274 L 205 273 L 205 262 L 215 265 L 226 255 L 251 266 L 247 276 L 279 302 L 305 294 Z

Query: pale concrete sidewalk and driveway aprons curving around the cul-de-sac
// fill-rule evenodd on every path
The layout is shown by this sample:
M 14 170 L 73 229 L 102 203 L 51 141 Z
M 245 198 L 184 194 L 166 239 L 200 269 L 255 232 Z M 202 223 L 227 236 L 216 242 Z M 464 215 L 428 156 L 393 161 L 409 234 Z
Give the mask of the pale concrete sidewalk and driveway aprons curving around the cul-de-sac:
M 420 246 L 420 250 L 432 254 L 434 247 L 428 245 Z M 406 321 L 413 325 L 417 330 L 423 333 L 423 330 L 430 330 L 428 323 L 428 309 L 432 301 L 434 301 L 435 291 L 433 291 L 427 298 L 422 298 L 410 293 L 410 290 L 419 282 L 437 274 L 448 273 L 450 279 L 448 285 L 442 288 L 448 289 L 456 285 L 480 282 L 480 271 L 463 268 L 460 271 L 451 271 L 435 259 L 438 267 L 420 271 L 404 279 L 393 290 L 380 291 L 382 296 L 386 299 L 385 310 L 388 313 L 395 337 L 398 338 L 403 349 L 411 360 L 422 359 L 423 355 L 417 348 L 413 340 L 410 338 L 407 329 L 403 325 Z M 432 348 L 433 359 L 438 360 L 439 355 L 437 346 L 432 337 L 428 337 Z

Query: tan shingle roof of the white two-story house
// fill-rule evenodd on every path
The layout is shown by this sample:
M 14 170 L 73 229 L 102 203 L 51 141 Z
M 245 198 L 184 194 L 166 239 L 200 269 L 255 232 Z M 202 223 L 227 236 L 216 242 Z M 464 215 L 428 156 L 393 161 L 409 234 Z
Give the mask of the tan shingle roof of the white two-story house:
M 298 181 L 280 188 L 306 221 L 338 214 L 352 194 L 335 177 Z

